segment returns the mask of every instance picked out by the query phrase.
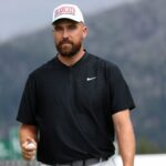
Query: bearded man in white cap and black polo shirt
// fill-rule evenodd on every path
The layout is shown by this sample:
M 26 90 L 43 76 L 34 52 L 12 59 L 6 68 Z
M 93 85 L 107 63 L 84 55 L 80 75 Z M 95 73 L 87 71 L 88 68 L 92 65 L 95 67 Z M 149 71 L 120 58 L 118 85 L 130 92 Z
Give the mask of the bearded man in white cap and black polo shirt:
M 43 165 L 113 165 L 114 131 L 123 166 L 134 165 L 134 102 L 118 68 L 84 50 L 81 10 L 53 11 L 58 55 L 29 75 L 17 120 L 24 159 Z M 108 159 L 110 158 L 110 159 Z

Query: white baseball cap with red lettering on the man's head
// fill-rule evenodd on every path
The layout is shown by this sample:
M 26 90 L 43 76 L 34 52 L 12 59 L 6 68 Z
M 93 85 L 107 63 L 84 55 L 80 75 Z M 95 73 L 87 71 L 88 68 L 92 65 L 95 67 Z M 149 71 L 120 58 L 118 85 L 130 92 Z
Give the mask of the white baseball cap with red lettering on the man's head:
M 60 19 L 84 22 L 82 11 L 75 4 L 61 4 L 53 10 L 52 23 Z

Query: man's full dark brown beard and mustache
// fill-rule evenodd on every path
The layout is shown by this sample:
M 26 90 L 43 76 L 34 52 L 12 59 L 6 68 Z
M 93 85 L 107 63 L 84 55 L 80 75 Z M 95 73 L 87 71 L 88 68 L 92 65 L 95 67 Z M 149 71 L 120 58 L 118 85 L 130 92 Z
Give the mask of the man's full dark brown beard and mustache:
M 81 49 L 81 40 L 77 43 L 73 43 L 68 39 L 62 40 L 60 43 L 55 43 L 56 50 L 62 56 L 71 58 L 74 56 Z

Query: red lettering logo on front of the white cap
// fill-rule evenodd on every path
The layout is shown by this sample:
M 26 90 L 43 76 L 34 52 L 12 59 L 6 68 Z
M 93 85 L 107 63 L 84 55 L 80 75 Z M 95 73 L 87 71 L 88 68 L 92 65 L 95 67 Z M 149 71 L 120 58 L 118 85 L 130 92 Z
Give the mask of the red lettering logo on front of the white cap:
M 62 14 L 75 14 L 75 9 L 73 7 L 62 7 L 55 10 L 54 18 L 62 15 Z

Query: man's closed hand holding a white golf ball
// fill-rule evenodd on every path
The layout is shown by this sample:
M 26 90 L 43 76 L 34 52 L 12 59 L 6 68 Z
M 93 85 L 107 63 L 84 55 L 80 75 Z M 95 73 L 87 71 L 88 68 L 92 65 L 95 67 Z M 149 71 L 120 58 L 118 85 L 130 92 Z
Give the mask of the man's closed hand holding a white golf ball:
M 34 159 L 37 152 L 37 142 L 32 138 L 27 138 L 27 141 L 21 145 L 21 149 L 24 159 Z

